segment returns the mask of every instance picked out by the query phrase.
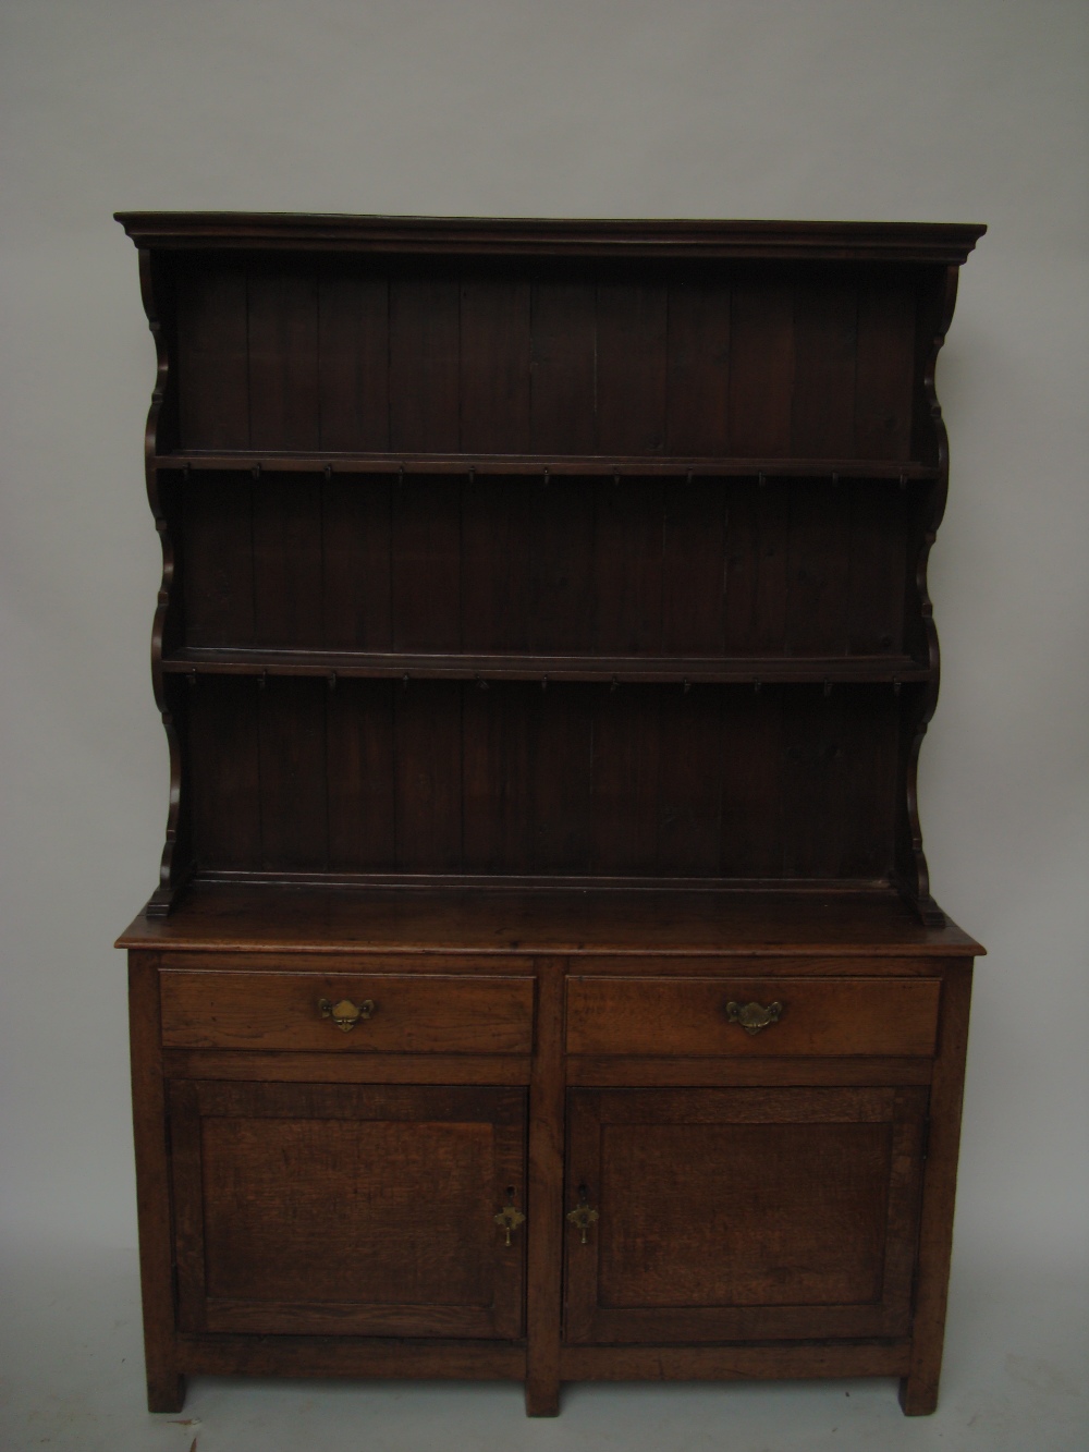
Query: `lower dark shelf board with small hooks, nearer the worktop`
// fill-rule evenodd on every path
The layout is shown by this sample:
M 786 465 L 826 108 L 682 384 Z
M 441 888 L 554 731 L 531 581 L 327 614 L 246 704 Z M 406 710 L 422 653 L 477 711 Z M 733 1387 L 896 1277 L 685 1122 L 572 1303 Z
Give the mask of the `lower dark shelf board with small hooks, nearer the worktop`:
M 896 682 L 929 680 L 908 655 L 592 656 L 462 655 L 396 650 L 219 650 L 187 648 L 163 658 L 170 675 L 311 675 L 447 681 Z

